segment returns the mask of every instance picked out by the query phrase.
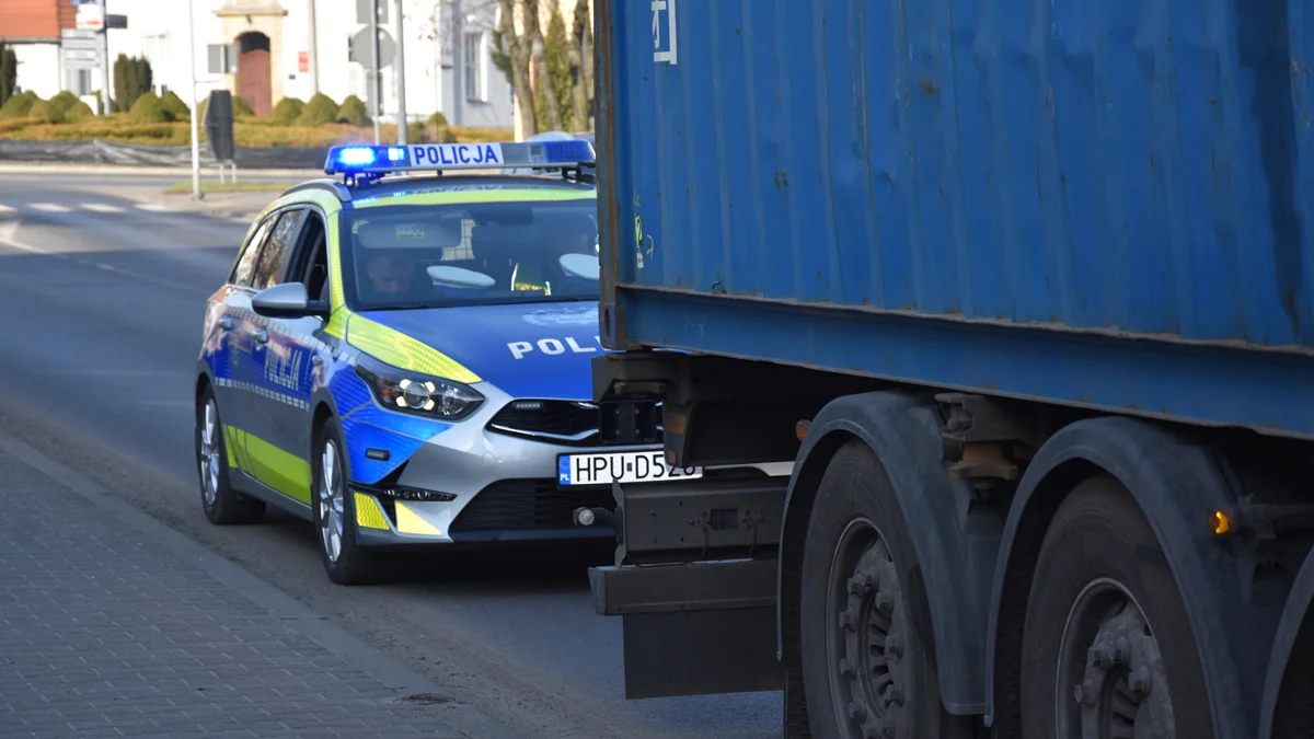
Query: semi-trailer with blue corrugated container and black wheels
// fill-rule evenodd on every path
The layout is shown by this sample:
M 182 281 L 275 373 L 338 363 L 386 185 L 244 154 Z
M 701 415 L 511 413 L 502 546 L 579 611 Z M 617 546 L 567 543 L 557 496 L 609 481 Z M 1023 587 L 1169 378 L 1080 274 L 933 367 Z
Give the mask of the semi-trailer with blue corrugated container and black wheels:
M 629 697 L 1307 736 L 1314 9 L 595 0 Z M 699 477 L 727 464 L 788 476 Z M 597 515 L 594 515 L 597 513 Z

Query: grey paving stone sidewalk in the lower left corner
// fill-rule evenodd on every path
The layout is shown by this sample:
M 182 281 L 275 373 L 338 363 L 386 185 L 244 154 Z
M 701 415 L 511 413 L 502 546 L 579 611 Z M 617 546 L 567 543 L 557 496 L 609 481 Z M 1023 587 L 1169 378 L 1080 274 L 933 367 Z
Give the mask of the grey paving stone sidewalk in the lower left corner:
M 164 539 L 0 446 L 0 736 L 472 736 Z

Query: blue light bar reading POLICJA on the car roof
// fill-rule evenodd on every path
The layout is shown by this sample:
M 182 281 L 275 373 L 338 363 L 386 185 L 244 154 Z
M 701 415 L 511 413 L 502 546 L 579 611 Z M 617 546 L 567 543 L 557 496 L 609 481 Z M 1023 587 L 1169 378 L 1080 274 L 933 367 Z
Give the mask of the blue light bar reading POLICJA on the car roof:
M 326 175 L 388 175 L 413 170 L 570 168 L 597 162 L 585 139 L 506 143 L 334 146 Z

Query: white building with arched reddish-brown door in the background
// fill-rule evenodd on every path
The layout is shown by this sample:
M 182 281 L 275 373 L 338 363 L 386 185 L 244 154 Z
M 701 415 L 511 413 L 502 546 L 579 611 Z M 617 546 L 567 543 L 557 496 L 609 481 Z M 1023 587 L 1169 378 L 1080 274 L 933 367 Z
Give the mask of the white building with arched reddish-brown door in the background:
M 440 110 L 452 125 L 510 129 L 511 85 L 491 60 L 497 17 L 487 9 L 495 7 L 476 3 L 485 12 L 453 18 L 452 8 L 460 1 L 402 3 L 407 118 L 423 121 Z M 396 46 L 397 3 L 378 3 L 386 7 L 384 46 Z M 229 89 L 251 103 L 258 114 L 285 96 L 305 101 L 317 91 L 338 103 L 356 95 L 368 105 L 369 71 L 351 60 L 357 34 L 365 39 L 360 58 L 369 59 L 369 26 L 357 16 L 368 17 L 367 8 L 368 0 L 108 0 L 108 13 L 127 16 L 126 29 L 108 32 L 109 58 L 113 63 L 120 54 L 145 55 L 156 92 L 172 89 L 184 100 L 194 62 L 197 99 L 204 100 L 212 89 Z M 189 53 L 194 54 L 191 59 Z M 381 120 L 386 122 L 397 114 L 394 71 L 396 64 L 382 71 Z M 76 84 L 89 84 L 75 89 L 79 93 L 99 89 L 100 75 Z

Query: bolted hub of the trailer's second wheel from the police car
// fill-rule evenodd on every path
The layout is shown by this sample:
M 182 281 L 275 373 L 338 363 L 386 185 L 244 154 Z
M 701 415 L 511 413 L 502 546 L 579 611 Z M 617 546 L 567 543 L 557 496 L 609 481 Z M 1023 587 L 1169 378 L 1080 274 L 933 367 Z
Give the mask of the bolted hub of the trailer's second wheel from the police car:
M 1101 608 L 1088 602 L 1083 618 L 1079 613 L 1083 601 L 1091 600 L 1079 598 L 1074 606 L 1068 636 L 1079 638 L 1074 626 L 1080 632 L 1080 623 L 1091 623 L 1089 610 Z M 1167 672 L 1150 625 L 1127 598 L 1114 604 L 1105 600 L 1101 610 L 1105 615 L 1088 642 L 1084 665 L 1074 671 L 1074 677 L 1080 677 L 1070 681 L 1066 697 L 1063 681 L 1059 681 L 1060 726 L 1080 726 L 1081 739 L 1172 739 L 1176 722 Z M 1077 643 L 1070 643 L 1063 654 L 1080 659 L 1077 648 Z M 1076 715 L 1062 710 L 1064 705 L 1075 707 Z

